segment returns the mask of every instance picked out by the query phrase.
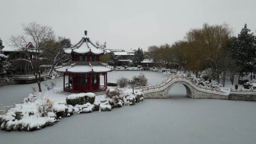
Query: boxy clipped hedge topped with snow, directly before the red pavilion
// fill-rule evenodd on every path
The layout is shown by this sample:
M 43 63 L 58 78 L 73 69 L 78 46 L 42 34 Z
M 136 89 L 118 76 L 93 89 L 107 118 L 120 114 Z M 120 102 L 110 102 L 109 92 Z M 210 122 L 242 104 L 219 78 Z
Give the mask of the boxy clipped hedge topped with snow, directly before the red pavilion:
M 95 94 L 88 92 L 88 93 L 80 93 L 80 94 L 71 94 L 68 95 L 66 98 L 67 104 L 71 105 L 83 105 L 87 102 L 93 104 L 95 100 Z

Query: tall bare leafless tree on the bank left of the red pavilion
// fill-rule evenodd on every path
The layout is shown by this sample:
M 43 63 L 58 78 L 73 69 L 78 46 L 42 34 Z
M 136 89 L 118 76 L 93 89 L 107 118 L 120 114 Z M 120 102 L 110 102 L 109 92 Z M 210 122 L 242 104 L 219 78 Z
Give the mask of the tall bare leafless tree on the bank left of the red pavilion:
M 38 85 L 39 92 L 41 90 L 41 71 L 40 58 L 42 58 L 43 52 L 46 49 L 46 43 L 50 39 L 54 39 L 54 31 L 47 25 L 37 24 L 36 22 L 30 22 L 28 24 L 22 24 L 24 34 L 11 36 L 9 39 L 10 46 L 14 46 L 21 50 L 24 54 L 24 58 L 15 60 L 27 61 L 30 63 L 36 82 Z M 31 42 L 34 48 L 27 48 L 28 43 Z M 34 54 L 34 58 L 30 58 L 30 54 Z M 46 53 L 45 53 L 46 54 Z

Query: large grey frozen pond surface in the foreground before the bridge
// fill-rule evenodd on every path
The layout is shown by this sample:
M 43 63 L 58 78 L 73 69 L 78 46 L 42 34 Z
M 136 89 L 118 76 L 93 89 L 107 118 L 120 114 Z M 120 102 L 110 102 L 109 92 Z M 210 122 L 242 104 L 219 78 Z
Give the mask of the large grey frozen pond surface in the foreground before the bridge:
M 144 99 L 108 112 L 73 115 L 40 131 L 0 131 L 0 144 L 255 143 L 255 102 L 185 95 L 185 87 L 175 85 L 169 99 Z

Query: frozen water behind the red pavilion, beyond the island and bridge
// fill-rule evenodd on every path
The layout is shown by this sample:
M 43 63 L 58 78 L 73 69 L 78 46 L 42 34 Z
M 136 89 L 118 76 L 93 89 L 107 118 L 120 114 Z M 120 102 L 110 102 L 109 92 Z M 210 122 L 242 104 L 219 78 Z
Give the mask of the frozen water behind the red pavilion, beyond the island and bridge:
M 112 71 L 107 74 L 107 80 L 108 82 L 115 82 L 116 79 L 120 76 L 124 76 L 130 79 L 131 77 L 139 75 L 140 73 L 141 71 Z M 152 71 L 143 71 L 143 73 L 147 77 L 149 84 L 160 83 L 162 80 L 170 76 L 170 74 L 161 74 Z M 66 76 L 65 78 L 65 82 L 67 82 L 68 77 Z M 102 76 L 101 78 L 102 79 L 100 80 L 100 82 L 104 83 Z M 56 82 L 55 88 L 63 88 L 63 77 L 54 79 L 53 81 Z M 42 90 L 45 89 L 44 83 L 46 82 L 48 81 L 43 81 L 41 83 Z M 13 102 L 21 103 L 24 98 L 26 98 L 30 93 L 33 93 L 31 87 L 38 88 L 37 83 L 0 86 L 0 104 L 12 105 Z

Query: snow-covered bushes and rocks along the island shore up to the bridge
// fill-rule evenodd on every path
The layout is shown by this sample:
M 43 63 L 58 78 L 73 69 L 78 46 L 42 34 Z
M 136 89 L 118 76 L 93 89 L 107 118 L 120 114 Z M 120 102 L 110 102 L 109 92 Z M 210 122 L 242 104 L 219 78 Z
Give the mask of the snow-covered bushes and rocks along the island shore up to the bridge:
M 89 99 L 85 99 L 85 96 Z M 75 100 L 80 98 L 83 98 L 84 104 L 71 105 L 50 102 L 49 99 L 43 98 L 42 93 L 30 94 L 22 104 L 16 104 L 15 108 L 0 116 L 1 129 L 5 131 L 39 130 L 54 125 L 62 117 L 70 117 L 73 114 L 90 113 L 95 110 L 110 111 L 115 107 L 133 105 L 134 102 L 143 100 L 143 94 L 138 91 L 132 94 L 131 89 L 110 88 L 104 101 L 95 99 L 93 93 L 72 94 L 68 95 L 66 99 Z M 93 98 L 93 103 L 90 98 Z

